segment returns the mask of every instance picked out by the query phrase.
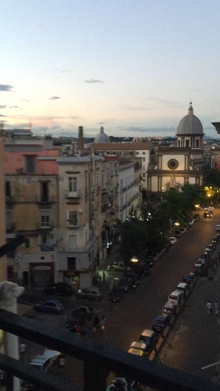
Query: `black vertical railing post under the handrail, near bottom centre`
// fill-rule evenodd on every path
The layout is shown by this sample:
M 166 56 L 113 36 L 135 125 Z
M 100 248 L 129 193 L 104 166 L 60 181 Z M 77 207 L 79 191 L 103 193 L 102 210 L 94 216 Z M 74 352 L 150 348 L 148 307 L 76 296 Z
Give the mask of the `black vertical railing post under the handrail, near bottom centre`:
M 98 362 L 84 363 L 84 391 L 105 391 L 108 371 Z

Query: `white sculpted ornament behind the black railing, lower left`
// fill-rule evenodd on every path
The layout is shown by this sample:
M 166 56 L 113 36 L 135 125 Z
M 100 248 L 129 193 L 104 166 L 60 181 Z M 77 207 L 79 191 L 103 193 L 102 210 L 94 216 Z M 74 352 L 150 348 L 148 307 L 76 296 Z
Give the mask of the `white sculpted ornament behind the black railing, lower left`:
M 23 287 L 19 287 L 10 281 L 0 283 L 0 308 L 17 314 L 17 298 L 24 292 Z M 5 353 L 19 360 L 18 337 L 9 332 L 4 333 Z M 20 390 L 20 379 L 13 378 L 13 389 Z

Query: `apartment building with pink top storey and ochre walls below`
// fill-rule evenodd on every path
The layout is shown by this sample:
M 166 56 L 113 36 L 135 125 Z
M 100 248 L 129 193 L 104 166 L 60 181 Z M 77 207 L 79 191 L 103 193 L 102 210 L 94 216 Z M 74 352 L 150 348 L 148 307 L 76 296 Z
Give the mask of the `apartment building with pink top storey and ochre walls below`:
M 47 139 L 44 144 L 30 134 L 6 137 L 7 240 L 25 237 L 8 256 L 8 279 L 24 286 L 41 287 L 56 278 L 59 155 Z

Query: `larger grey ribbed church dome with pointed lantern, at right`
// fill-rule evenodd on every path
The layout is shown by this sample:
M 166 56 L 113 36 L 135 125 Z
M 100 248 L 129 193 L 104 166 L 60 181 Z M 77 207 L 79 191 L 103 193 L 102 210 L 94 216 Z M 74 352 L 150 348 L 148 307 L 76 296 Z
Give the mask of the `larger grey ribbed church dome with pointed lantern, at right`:
M 183 117 L 177 128 L 177 136 L 179 135 L 203 135 L 203 126 L 198 117 L 193 113 L 193 107 L 190 106 L 188 109 L 188 115 Z

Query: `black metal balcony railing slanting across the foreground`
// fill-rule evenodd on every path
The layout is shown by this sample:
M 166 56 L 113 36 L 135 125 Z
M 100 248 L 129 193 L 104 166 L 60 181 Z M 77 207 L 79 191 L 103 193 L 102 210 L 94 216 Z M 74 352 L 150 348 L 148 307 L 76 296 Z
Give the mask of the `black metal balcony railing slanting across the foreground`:
M 85 391 L 105 391 L 110 372 L 123 374 L 162 391 L 220 391 L 219 385 L 204 379 L 5 310 L 0 310 L 0 329 L 84 361 Z M 66 380 L 35 370 L 29 364 L 3 354 L 0 354 L 0 368 L 7 375 L 7 391 L 13 389 L 12 375 L 44 385 L 47 390 L 77 389 Z

